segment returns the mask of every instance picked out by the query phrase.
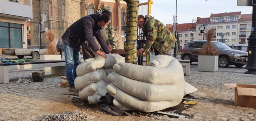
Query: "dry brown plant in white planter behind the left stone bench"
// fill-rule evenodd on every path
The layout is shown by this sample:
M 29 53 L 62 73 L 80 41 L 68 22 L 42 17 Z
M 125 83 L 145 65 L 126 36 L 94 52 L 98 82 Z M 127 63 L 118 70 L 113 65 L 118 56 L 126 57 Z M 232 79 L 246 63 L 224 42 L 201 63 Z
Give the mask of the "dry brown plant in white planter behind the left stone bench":
M 40 60 L 61 60 L 60 53 L 56 50 L 56 44 L 54 42 L 55 35 L 51 30 L 46 30 L 44 41 L 47 45 L 47 49 L 43 55 L 40 56 Z M 41 68 L 43 71 L 51 71 L 50 67 Z

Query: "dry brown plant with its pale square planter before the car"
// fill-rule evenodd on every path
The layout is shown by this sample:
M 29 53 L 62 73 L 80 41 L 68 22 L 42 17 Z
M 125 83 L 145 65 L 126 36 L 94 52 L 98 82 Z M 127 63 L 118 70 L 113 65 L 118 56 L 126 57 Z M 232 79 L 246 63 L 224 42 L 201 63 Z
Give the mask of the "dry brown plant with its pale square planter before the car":
M 218 71 L 219 52 L 216 51 L 212 45 L 211 41 L 213 40 L 213 37 L 214 30 L 208 30 L 208 32 L 206 32 L 207 42 L 203 45 L 203 50 L 200 51 L 198 55 L 198 71 Z

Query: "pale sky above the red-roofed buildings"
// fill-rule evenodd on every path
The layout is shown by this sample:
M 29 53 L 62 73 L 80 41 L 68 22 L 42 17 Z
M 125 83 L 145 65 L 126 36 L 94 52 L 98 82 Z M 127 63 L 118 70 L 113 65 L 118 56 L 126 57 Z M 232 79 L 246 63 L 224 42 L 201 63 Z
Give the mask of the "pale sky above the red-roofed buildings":
M 148 0 L 140 0 L 140 3 Z M 151 16 L 164 25 L 172 24 L 176 0 L 153 0 Z M 144 7 L 146 8 L 146 7 Z M 252 6 L 237 6 L 237 0 L 177 0 L 177 23 L 191 23 L 193 18 L 210 17 L 211 13 L 238 12 L 252 14 Z

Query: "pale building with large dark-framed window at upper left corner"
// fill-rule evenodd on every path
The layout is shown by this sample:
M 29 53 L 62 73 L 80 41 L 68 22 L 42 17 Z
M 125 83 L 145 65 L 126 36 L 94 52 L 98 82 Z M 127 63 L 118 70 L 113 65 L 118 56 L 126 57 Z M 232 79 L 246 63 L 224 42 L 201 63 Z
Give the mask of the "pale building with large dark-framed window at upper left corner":
M 28 48 L 27 20 L 32 0 L 0 0 L 0 53 L 4 48 Z

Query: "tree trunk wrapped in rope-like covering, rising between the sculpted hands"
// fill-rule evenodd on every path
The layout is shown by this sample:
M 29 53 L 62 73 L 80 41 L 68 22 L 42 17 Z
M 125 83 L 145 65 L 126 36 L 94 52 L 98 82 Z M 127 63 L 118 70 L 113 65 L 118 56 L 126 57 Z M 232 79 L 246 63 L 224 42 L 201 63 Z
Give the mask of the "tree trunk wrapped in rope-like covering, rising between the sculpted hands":
M 137 18 L 139 10 L 138 0 L 124 0 L 127 3 L 127 23 L 125 42 L 125 62 L 137 64 Z

